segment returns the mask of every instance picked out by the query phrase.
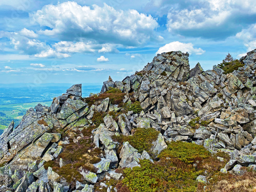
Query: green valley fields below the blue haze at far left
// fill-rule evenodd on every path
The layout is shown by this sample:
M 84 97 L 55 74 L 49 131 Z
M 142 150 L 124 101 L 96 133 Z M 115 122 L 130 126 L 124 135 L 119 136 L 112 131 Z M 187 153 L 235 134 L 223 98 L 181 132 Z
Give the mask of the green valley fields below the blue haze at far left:
M 52 102 L 31 102 L 0 105 L 0 130 L 4 130 L 11 123 L 11 121 L 14 121 L 14 126 L 17 126 L 20 120 L 22 120 L 22 117 L 26 114 L 26 111 L 30 108 L 34 108 L 38 103 L 50 106 Z

